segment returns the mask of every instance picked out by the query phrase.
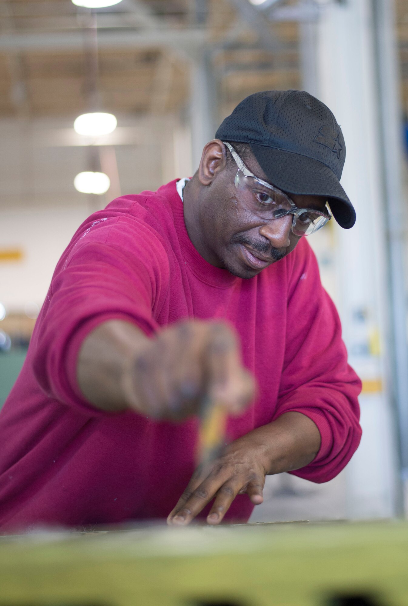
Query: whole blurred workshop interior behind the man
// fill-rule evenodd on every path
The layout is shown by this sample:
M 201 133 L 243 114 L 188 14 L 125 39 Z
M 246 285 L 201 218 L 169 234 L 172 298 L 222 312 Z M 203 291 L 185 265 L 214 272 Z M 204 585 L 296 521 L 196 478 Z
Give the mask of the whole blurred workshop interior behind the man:
M 0 1 L 0 405 L 81 222 L 192 175 L 247 95 L 304 89 L 346 139 L 356 225 L 310 244 L 363 379 L 363 439 L 332 482 L 268 478 L 252 521 L 406 514 L 408 0 L 75 2 Z M 111 116 L 75 122 L 95 112 Z

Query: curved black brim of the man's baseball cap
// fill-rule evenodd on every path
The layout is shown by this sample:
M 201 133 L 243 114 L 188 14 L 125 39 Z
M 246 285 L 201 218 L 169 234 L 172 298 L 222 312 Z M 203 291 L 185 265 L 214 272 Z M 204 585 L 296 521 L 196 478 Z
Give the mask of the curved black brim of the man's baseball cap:
M 268 181 L 287 193 L 326 196 L 333 217 L 345 229 L 353 227 L 356 213 L 335 173 L 318 160 L 301 154 L 251 143 L 253 155 Z

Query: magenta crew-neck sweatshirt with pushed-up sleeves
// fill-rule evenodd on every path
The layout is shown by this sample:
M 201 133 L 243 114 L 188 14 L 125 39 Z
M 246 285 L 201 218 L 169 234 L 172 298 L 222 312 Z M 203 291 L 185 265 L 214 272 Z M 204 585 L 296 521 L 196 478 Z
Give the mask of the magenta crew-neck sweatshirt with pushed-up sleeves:
M 294 473 L 314 482 L 336 476 L 356 450 L 361 384 L 347 365 L 339 318 L 306 238 L 254 278 L 236 278 L 195 250 L 173 181 L 90 216 L 58 262 L 0 413 L 3 533 L 165 518 L 186 488 L 196 418 L 172 424 L 133 411 L 105 413 L 81 396 L 79 347 L 112 318 L 147 335 L 186 318 L 230 322 L 259 396 L 229 419 L 229 440 L 299 411 L 319 428 L 321 448 Z M 226 521 L 246 521 L 252 509 L 240 495 Z

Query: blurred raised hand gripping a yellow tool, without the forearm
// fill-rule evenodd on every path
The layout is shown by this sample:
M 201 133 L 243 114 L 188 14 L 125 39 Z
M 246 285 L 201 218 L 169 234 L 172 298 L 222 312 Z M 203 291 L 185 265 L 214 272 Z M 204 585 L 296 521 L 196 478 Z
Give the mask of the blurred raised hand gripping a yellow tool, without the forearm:
M 129 407 L 158 419 L 198 413 L 204 396 L 239 413 L 255 395 L 255 381 L 242 366 L 235 332 L 222 322 L 188 321 L 145 339 L 122 375 Z

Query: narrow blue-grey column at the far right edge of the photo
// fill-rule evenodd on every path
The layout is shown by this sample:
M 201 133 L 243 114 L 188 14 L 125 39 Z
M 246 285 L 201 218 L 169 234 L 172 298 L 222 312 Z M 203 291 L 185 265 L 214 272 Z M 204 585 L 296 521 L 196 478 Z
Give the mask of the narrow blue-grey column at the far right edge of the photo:
M 403 198 L 401 163 L 403 134 L 400 117 L 400 85 L 392 0 L 372 0 L 376 27 L 376 58 L 380 93 L 384 191 L 386 195 L 387 244 L 389 250 L 390 359 L 392 395 L 398 410 L 401 467 L 405 484 L 405 511 L 408 514 L 408 344 L 407 267 L 404 263 L 407 239 L 407 210 Z

